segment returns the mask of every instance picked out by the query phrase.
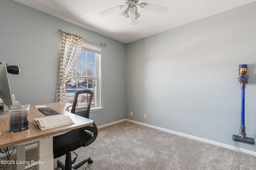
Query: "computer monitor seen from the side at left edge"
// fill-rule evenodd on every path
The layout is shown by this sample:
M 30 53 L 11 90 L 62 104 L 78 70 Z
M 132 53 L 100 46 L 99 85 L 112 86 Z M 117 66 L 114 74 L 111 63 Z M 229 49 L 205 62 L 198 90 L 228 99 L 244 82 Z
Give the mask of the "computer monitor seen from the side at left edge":
M 0 64 L 0 97 L 6 106 L 14 105 L 5 61 Z

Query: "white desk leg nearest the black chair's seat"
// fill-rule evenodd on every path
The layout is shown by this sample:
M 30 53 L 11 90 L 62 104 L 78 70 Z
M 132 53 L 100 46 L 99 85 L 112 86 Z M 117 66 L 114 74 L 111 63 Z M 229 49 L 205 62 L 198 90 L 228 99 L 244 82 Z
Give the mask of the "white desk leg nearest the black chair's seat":
M 38 141 L 38 170 L 53 169 L 53 140 L 52 137 L 44 137 Z

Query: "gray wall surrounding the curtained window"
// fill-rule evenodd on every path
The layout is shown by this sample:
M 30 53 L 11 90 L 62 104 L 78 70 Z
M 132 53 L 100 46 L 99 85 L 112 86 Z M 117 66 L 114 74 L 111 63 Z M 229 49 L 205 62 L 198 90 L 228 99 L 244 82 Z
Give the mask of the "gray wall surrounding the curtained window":
M 21 68 L 19 75 L 9 74 L 16 100 L 21 104 L 54 102 L 62 40 L 58 29 L 107 43 L 102 46 L 101 60 L 102 83 L 108 85 L 103 87 L 104 108 L 90 117 L 97 125 L 125 119 L 126 44 L 12 0 L 1 0 L 0 61 Z

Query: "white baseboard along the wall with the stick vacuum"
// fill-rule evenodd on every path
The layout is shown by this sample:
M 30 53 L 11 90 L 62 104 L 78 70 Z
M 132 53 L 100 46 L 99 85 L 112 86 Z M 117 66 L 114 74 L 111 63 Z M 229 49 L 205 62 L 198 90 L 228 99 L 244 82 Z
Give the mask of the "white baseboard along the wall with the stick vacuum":
M 211 140 L 208 140 L 208 139 L 204 139 L 204 138 L 188 135 L 188 134 L 185 134 L 185 133 L 180 133 L 180 132 L 172 131 L 172 130 L 169 130 L 169 129 L 164 129 L 162 127 L 156 127 L 156 126 L 148 125 L 146 123 L 141 123 L 141 122 L 133 121 L 133 120 L 130 120 L 130 119 L 126 119 L 126 121 L 129 121 L 129 122 L 132 122 L 132 123 L 136 123 L 138 125 L 142 125 L 142 126 L 146 126 L 146 127 L 151 127 L 153 129 L 158 129 L 160 131 L 165 131 L 165 132 L 168 132 L 168 133 L 172 133 L 174 135 L 179 135 L 179 136 L 187 137 L 187 138 L 194 139 L 194 140 L 197 140 L 197 141 L 201 141 L 201 142 L 205 142 L 205 143 L 210 143 L 212 145 L 216 145 L 216 146 L 219 146 L 219 147 L 223 147 L 223 148 L 227 148 L 227 149 L 231 149 L 231 150 L 236 150 L 236 147 L 231 146 L 231 145 L 226 145 L 224 143 L 219 143 L 219 142 L 216 142 L 216 141 L 211 141 Z M 254 151 L 246 150 L 246 149 L 242 149 L 242 148 L 239 148 L 239 149 L 240 149 L 240 152 L 256 156 L 256 152 L 254 152 Z

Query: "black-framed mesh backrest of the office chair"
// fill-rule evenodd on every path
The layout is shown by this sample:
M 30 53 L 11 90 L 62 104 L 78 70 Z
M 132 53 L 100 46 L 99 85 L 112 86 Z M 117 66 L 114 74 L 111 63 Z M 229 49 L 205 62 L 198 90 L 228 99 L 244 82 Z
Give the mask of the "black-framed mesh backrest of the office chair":
M 86 117 L 89 119 L 90 108 L 94 92 L 90 89 L 78 90 L 74 96 L 71 113 Z

